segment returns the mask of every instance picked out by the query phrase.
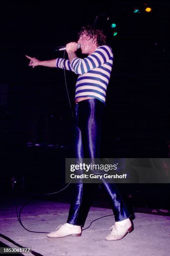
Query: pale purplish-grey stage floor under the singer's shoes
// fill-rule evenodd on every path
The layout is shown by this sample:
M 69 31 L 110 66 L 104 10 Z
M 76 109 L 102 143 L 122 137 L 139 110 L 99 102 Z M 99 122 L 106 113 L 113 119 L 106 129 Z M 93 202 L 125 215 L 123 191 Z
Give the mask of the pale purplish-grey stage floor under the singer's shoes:
M 114 216 L 101 218 L 82 231 L 82 236 L 47 238 L 45 233 L 30 233 L 18 222 L 16 210 L 27 202 L 24 199 L 10 199 L 0 208 L 0 247 L 33 250 L 32 255 L 43 256 L 169 256 L 170 217 L 135 213 L 134 230 L 119 241 L 105 241 L 114 224 Z M 51 232 L 67 220 L 69 204 L 62 202 L 30 201 L 21 213 L 23 225 L 32 231 Z M 85 223 L 112 215 L 112 210 L 91 207 Z M 13 254 L 14 255 L 14 254 Z M 19 254 L 18 254 L 19 255 Z M 22 253 L 20 255 L 29 255 Z

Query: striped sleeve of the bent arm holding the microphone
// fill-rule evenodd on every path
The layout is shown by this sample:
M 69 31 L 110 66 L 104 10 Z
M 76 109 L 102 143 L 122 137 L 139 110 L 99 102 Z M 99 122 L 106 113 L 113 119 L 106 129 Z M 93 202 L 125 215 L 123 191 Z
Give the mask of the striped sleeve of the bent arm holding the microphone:
M 84 74 L 92 69 L 113 61 L 113 53 L 110 46 L 100 46 L 85 59 L 75 58 L 71 62 L 71 68 L 75 74 Z M 112 66 L 110 64 L 110 66 Z

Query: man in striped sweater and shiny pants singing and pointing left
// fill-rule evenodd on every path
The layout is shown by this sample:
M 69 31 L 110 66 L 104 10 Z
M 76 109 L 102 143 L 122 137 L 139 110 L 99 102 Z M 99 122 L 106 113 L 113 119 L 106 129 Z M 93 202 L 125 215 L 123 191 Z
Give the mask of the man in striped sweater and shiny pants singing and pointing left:
M 77 43 L 81 46 L 82 54 L 88 56 L 80 59 L 76 55 Z M 57 58 L 48 61 L 30 59 L 29 66 L 38 65 L 67 69 L 78 74 L 75 85 L 75 158 L 100 157 L 100 127 L 102 113 L 105 107 L 107 85 L 113 63 L 113 53 L 106 45 L 104 33 L 92 26 L 83 27 L 78 33 L 78 41 L 66 45 L 68 59 Z M 67 223 L 59 225 L 56 231 L 47 235 L 50 238 L 65 236 L 81 236 L 93 195 L 94 184 L 71 184 L 72 202 Z M 133 230 L 125 203 L 115 184 L 103 182 L 101 184 L 111 201 L 115 216 L 115 225 L 110 228 L 111 233 L 105 238 L 107 241 L 122 239 Z

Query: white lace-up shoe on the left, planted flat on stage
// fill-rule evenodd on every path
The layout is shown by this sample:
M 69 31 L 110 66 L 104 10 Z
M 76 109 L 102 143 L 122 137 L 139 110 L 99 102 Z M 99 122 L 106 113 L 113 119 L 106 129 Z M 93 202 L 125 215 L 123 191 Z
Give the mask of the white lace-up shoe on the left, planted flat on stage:
M 47 234 L 50 238 L 62 238 L 65 236 L 81 236 L 82 229 L 81 226 L 72 225 L 65 223 L 64 225 L 59 225 L 56 231 Z

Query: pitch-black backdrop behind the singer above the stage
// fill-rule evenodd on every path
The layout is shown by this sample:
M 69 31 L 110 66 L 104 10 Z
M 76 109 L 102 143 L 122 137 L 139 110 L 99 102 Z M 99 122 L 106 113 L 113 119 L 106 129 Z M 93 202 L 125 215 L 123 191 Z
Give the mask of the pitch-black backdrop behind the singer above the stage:
M 153 8 L 151 13 L 145 12 L 146 3 Z M 133 13 L 137 7 L 140 13 Z M 63 57 L 54 49 L 76 41 L 77 31 L 94 24 L 96 18 L 95 26 L 105 31 L 114 53 L 102 156 L 170 156 L 169 8 L 170 3 L 162 0 L 5 1 L 1 5 L 2 196 L 51 192 L 64 186 L 64 159 L 72 156 L 73 126 L 64 73 L 55 68 L 32 69 L 25 54 L 41 60 Z M 117 24 L 115 37 L 112 22 Z M 79 51 L 77 55 L 82 57 Z M 76 78 L 66 71 L 72 106 Z M 125 196 L 133 194 L 139 205 L 169 207 L 168 184 L 126 186 L 122 187 Z

